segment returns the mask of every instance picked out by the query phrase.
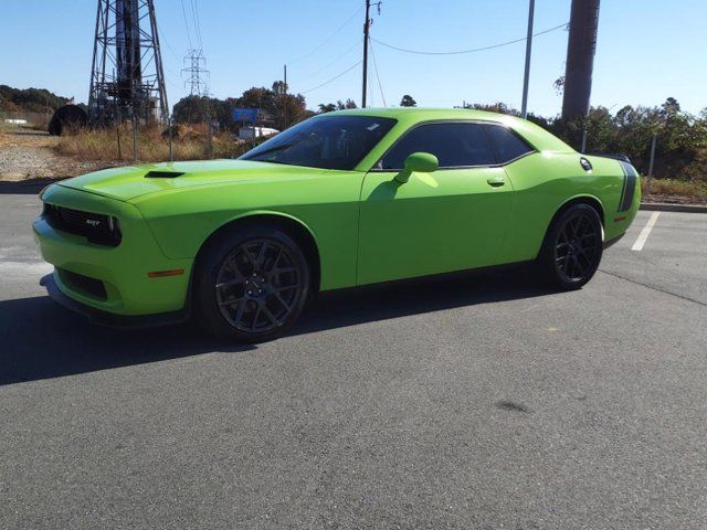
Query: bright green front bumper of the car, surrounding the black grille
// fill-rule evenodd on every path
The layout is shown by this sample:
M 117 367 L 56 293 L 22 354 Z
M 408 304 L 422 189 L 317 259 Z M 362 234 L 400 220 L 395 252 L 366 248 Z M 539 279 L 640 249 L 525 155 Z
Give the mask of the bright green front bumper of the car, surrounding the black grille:
M 44 259 L 55 267 L 52 282 L 59 293 L 92 310 L 120 317 L 184 310 L 193 261 L 165 256 L 137 208 L 57 184 L 48 188 L 42 200 L 114 215 L 119 219 L 123 232 L 118 246 L 103 246 L 56 230 L 40 216 L 33 224 L 34 239 Z M 173 269 L 183 269 L 183 274 L 148 276 L 149 272 Z M 86 289 L 85 284 L 74 282 L 77 277 L 102 284 L 101 296 L 96 289 Z

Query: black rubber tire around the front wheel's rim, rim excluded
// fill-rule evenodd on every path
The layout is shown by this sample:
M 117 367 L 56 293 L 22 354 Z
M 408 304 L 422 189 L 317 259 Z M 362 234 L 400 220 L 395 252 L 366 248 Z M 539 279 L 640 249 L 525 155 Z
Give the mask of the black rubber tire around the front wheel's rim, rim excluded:
M 221 315 L 217 304 L 215 283 L 223 261 L 240 245 L 251 240 L 272 240 L 285 245 L 299 268 L 302 290 L 295 307 L 283 324 L 263 332 L 246 332 L 231 326 Z M 302 312 L 309 293 L 309 264 L 302 248 L 286 232 L 276 226 L 244 226 L 219 234 L 200 253 L 194 264 L 192 304 L 194 316 L 209 333 L 229 337 L 239 342 L 265 342 L 287 331 Z

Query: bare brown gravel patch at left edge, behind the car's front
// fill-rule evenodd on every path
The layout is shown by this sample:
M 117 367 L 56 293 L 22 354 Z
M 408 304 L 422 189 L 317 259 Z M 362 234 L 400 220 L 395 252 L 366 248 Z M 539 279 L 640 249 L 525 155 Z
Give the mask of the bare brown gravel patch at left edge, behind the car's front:
M 0 135 L 0 181 L 65 179 L 115 166 L 102 160 L 78 161 L 56 155 L 59 138 L 46 132 L 10 130 Z

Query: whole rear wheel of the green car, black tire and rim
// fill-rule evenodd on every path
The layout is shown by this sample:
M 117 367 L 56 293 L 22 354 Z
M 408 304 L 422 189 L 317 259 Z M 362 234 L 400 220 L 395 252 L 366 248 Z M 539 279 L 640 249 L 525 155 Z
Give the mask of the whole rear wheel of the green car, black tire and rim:
M 542 243 L 537 266 L 541 276 L 561 290 L 581 288 L 601 262 L 603 229 L 599 213 L 578 203 L 552 222 Z

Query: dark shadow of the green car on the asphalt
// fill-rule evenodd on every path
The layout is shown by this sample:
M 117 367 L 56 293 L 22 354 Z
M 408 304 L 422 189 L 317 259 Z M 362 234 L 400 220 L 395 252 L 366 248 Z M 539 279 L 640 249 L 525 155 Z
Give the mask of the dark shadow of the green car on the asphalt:
M 524 269 L 346 289 L 321 294 L 289 335 L 548 293 Z M 257 348 L 209 338 L 191 324 L 148 330 L 95 326 L 48 296 L 0 301 L 0 385 Z

